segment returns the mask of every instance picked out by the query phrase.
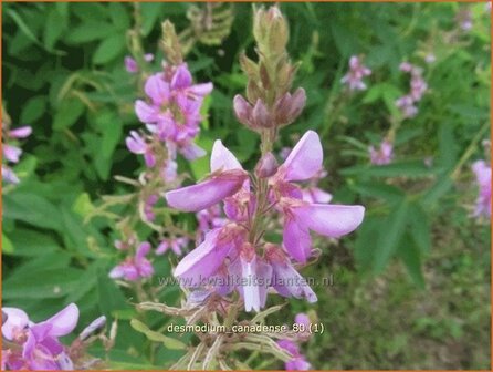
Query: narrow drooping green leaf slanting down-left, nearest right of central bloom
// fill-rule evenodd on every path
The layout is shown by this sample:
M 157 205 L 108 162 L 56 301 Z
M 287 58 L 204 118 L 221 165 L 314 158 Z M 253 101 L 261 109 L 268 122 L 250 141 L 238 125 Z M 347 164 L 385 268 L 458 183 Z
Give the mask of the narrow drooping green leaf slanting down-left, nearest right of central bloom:
M 374 272 L 381 273 L 390 257 L 397 251 L 408 219 L 409 204 L 403 200 L 387 217 L 387 223 L 379 231 L 375 249 Z

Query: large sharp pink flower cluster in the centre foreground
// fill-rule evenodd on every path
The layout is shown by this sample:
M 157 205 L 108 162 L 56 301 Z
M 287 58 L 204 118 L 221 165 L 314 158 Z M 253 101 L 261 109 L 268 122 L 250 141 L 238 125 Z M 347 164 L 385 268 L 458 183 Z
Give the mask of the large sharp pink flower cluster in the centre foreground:
M 303 265 L 310 259 L 310 231 L 338 238 L 356 229 L 364 215 L 361 206 L 303 198 L 302 188 L 294 182 L 315 177 L 322 162 L 318 135 L 308 131 L 281 166 L 268 154 L 259 163 L 255 177 L 250 177 L 221 141 L 216 141 L 209 177 L 165 196 L 169 206 L 183 211 L 197 213 L 222 202 L 227 221 L 207 232 L 174 275 L 196 289 L 206 287 L 220 294 L 238 290 L 246 311 L 264 307 L 270 287 L 284 297 L 316 301 L 293 261 Z M 282 216 L 282 246 L 263 240 L 262 224 L 270 214 Z

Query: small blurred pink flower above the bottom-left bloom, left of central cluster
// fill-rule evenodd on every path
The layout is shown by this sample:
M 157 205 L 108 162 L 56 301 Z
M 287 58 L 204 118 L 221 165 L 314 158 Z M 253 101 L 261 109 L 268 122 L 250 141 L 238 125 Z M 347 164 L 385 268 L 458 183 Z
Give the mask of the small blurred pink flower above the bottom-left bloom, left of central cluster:
M 128 257 L 124 262 L 112 269 L 109 272 L 109 278 L 123 278 L 128 281 L 149 278 L 154 273 L 153 265 L 146 258 L 149 251 L 150 244 L 147 241 L 141 242 L 137 247 L 137 251 L 134 257 Z

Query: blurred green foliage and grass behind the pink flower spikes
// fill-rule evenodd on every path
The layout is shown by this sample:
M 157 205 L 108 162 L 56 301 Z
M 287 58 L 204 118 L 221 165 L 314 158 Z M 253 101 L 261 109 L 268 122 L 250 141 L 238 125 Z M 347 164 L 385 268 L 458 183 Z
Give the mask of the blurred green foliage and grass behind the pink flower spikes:
M 155 71 L 162 58 L 160 22 L 169 18 L 183 30 L 189 7 L 140 4 L 144 46 L 157 54 Z M 252 167 L 259 138 L 232 113 L 232 97 L 246 82 L 239 54 L 253 56 L 252 6 L 231 7 L 230 34 L 220 45 L 197 43 L 187 60 L 196 81 L 214 83 L 199 144 L 210 151 L 221 138 Z M 315 369 L 490 369 L 490 221 L 469 216 L 478 192 L 469 165 L 484 158 L 481 141 L 490 137 L 485 3 L 281 9 L 290 21 L 291 58 L 302 61 L 295 86 L 306 90 L 307 105 L 281 132 L 276 149 L 292 146 L 308 128 L 317 131 L 328 172 L 321 187 L 336 203 L 365 205 L 367 215 L 340 242 L 316 240 L 322 257 L 304 275 L 334 279 L 314 289 L 319 301 L 291 300 L 271 321 L 316 313 L 326 331 L 303 348 Z M 473 22 L 466 32 L 457 21 L 464 11 Z M 101 217 L 84 223 L 102 195 L 128 190 L 113 176 L 135 178 L 141 168 L 125 146 L 127 133 L 141 125 L 133 111 L 140 93 L 123 63 L 133 17 L 132 3 L 2 4 L 3 105 L 13 127 L 33 127 L 14 166 L 21 183 L 3 187 L 2 302 L 35 321 L 69 302 L 80 307 L 81 327 L 101 313 L 118 318 L 111 366 L 144 369 L 169 365 L 177 352 L 159 347 L 149 358 L 154 347 L 128 324 L 134 299 L 107 278 L 116 264 L 112 224 Z M 430 52 L 437 61 L 427 64 Z M 368 90 L 337 106 L 353 54 L 365 55 L 373 70 Z M 419 114 L 400 125 L 395 163 L 369 166 L 366 146 L 385 136 L 397 115 L 394 102 L 408 90 L 402 61 L 424 69 L 429 91 Z M 199 178 L 208 157 L 180 167 Z M 156 271 L 169 273 L 170 261 L 176 258 L 156 258 Z M 179 291 L 168 288 L 160 296 L 172 303 Z M 169 319 L 147 319 L 164 321 Z

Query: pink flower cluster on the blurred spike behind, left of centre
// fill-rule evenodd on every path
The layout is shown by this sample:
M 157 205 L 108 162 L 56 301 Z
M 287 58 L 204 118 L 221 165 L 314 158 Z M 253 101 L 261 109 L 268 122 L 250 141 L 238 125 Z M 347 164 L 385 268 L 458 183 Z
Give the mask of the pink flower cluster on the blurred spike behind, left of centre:
M 212 83 L 192 84 L 186 63 L 165 65 L 164 70 L 147 79 L 144 92 L 148 100 L 135 103 L 137 117 L 148 132 L 132 132 L 126 142 L 130 152 L 144 155 L 147 167 L 159 167 L 164 179 L 172 180 L 177 152 L 189 161 L 206 154 L 193 138 L 199 133 L 200 108 Z

